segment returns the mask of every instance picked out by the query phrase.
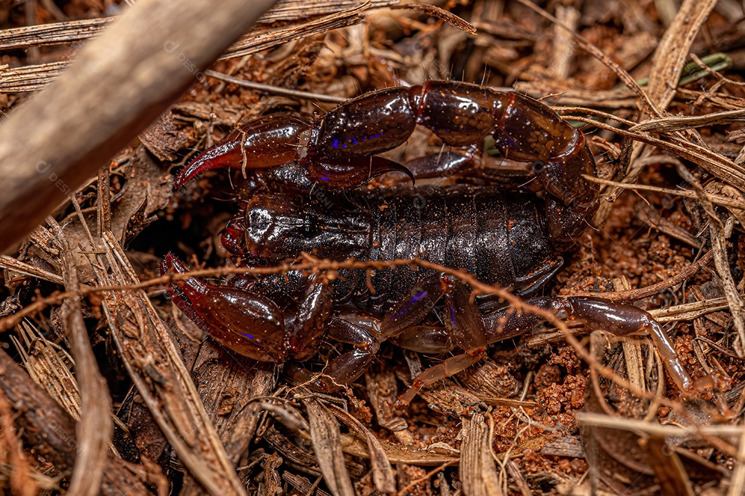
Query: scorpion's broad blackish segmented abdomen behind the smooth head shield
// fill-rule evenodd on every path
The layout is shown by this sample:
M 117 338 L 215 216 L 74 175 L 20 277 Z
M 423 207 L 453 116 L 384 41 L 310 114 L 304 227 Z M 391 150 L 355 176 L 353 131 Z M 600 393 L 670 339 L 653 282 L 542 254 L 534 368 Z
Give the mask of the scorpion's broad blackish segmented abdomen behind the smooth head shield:
M 484 283 L 528 292 L 536 271 L 558 267 L 548 246 L 542 202 L 498 187 L 398 187 L 374 190 L 362 202 L 370 212 L 370 260 L 422 258 L 462 268 Z M 553 270 L 551 270 L 553 273 Z M 376 271 L 358 282 L 363 306 L 384 307 L 402 297 L 424 268 Z

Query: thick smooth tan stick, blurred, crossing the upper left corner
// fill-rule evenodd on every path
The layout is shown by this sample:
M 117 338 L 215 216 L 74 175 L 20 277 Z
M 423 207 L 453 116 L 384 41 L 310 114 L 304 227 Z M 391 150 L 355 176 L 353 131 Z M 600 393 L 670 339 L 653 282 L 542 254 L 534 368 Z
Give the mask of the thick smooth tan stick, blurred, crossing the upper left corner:
M 275 0 L 142 0 L 0 123 L 0 252 L 201 80 Z

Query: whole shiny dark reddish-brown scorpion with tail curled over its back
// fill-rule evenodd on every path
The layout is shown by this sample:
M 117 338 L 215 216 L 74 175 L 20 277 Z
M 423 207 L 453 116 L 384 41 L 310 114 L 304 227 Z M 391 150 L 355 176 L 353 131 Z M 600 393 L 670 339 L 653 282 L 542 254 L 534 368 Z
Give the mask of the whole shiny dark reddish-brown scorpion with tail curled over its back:
M 492 135 L 504 157 L 533 163 L 530 176 L 544 198 L 493 185 L 358 188 L 392 170 L 409 173 L 377 154 L 405 143 L 416 124 L 451 147 L 474 147 Z M 410 168 L 418 178 L 432 177 L 469 163 L 467 153 L 442 152 Z M 224 248 L 247 265 L 302 251 L 333 260 L 420 257 L 526 295 L 562 265 L 559 254 L 585 230 L 599 202 L 597 185 L 583 178 L 596 168 L 582 132 L 530 97 L 447 81 L 373 91 L 320 119 L 270 115 L 239 126 L 182 170 L 175 187 L 226 167 L 244 175 L 261 169 L 250 176 L 256 194 L 222 233 Z M 314 196 L 315 188 L 328 192 L 326 202 Z M 169 254 L 162 271 L 186 269 Z M 325 390 L 357 379 L 389 339 L 419 352 L 463 350 L 419 374 L 400 398 L 405 403 L 422 386 L 475 364 L 487 344 L 542 321 L 500 308 L 493 297 L 474 299 L 463 283 L 423 268 L 386 268 L 372 277 L 341 271 L 333 283 L 293 271 L 275 278 L 235 277 L 228 286 L 191 277 L 174 280 L 168 293 L 212 338 L 258 361 L 303 361 L 326 337 L 354 344 L 320 377 L 294 367 L 296 379 Z M 443 297 L 444 327 L 422 325 Z M 635 306 L 596 297 L 526 301 L 616 335 L 648 333 L 681 390 L 713 382 L 709 376 L 692 380 L 659 323 Z

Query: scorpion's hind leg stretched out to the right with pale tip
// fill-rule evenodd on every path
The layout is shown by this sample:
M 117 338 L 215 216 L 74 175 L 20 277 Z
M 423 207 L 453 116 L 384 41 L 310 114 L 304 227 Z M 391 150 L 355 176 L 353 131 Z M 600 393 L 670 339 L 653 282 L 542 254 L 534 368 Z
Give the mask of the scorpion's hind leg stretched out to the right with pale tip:
M 691 379 L 659 323 L 633 305 L 596 297 L 539 297 L 525 300 L 525 303 L 554 312 L 559 318 L 577 319 L 593 330 L 604 330 L 618 336 L 650 335 L 671 378 L 686 393 L 717 384 L 712 376 Z M 487 341 L 493 343 L 522 335 L 545 319 L 529 312 L 504 309 L 486 315 L 484 321 Z

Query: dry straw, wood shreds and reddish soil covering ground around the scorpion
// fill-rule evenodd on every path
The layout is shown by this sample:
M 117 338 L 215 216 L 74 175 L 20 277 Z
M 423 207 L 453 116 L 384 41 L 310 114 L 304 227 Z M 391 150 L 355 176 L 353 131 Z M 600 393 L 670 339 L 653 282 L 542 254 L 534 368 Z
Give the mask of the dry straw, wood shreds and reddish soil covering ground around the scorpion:
M 0 7 L 4 114 L 127 8 Z M 0 256 L 0 486 L 19 495 L 744 494 L 744 14 L 724 0 L 279 1 Z M 322 114 L 428 79 L 514 88 L 583 129 L 603 203 L 543 294 L 646 309 L 685 367 L 718 387 L 685 396 L 649 338 L 588 336 L 553 319 L 491 345 L 407 407 L 397 396 L 443 357 L 385 343 L 364 377 L 321 395 L 282 365 L 223 350 L 168 300 L 167 253 L 199 277 L 247 271 L 219 239 L 249 199 L 241 171 L 173 189 L 198 151 L 266 112 Z M 417 129 L 386 156 L 438 149 Z M 425 264 L 385 266 L 412 263 Z M 335 276 L 384 266 L 312 254 L 299 264 Z M 324 347 L 309 363 L 323 367 L 337 352 Z

